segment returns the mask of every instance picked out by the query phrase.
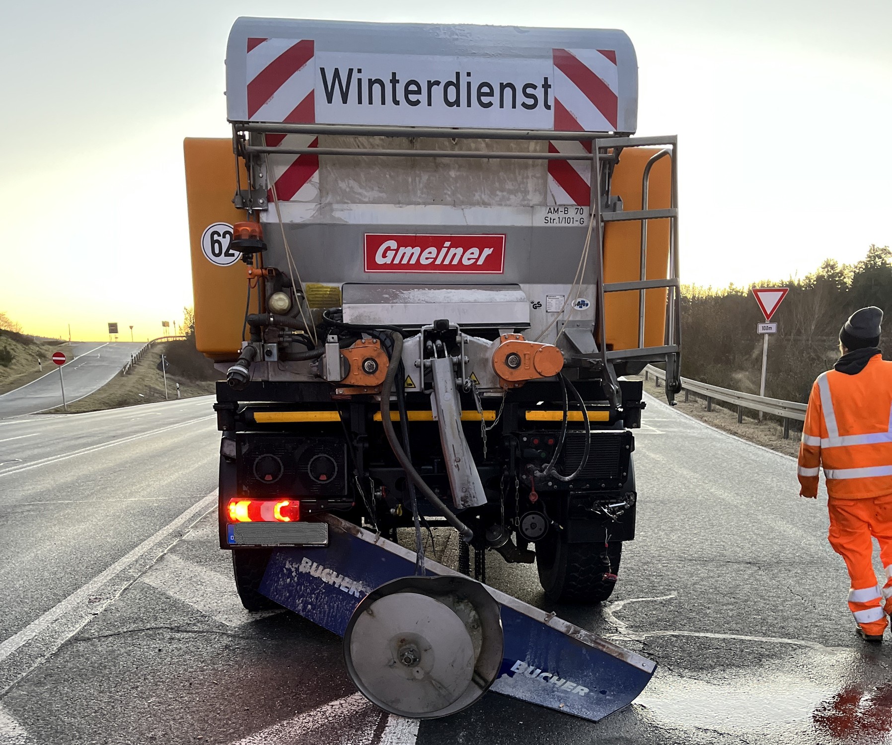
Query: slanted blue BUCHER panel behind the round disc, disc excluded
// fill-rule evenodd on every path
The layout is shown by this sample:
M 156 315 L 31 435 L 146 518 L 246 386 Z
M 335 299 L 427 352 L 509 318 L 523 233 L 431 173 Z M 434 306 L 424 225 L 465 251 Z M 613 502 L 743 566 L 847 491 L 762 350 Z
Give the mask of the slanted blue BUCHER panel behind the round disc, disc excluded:
M 328 545 L 274 549 L 260 592 L 343 636 L 359 600 L 415 575 L 415 552 L 339 517 L 324 519 Z M 425 569 L 458 575 L 426 558 Z M 655 662 L 484 586 L 500 605 L 504 633 L 491 691 L 597 722 L 631 704 L 653 677 Z

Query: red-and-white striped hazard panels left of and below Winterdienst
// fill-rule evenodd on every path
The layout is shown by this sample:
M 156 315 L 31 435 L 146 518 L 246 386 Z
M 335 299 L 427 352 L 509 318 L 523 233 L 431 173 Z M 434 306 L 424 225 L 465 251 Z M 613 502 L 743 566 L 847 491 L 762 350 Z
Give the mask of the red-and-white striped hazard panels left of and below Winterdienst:
M 248 39 L 248 116 L 252 120 L 309 124 L 316 120 L 316 66 L 312 39 Z M 295 102 L 298 102 L 295 105 Z M 318 147 L 314 135 L 266 135 L 269 147 Z M 269 156 L 268 200 L 318 202 L 319 156 Z M 275 184 L 275 194 L 273 185 Z

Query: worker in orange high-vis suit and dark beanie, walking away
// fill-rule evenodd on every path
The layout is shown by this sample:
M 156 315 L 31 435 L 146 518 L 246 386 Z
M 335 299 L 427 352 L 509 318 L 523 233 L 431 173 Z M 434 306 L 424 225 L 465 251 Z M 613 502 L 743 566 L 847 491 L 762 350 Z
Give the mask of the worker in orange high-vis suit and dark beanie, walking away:
M 883 311 L 862 308 L 839 332 L 842 356 L 814 381 L 799 446 L 799 492 L 818 495 L 823 466 L 830 509 L 830 545 L 846 560 L 848 607 L 857 632 L 881 642 L 892 614 L 892 362 L 882 359 Z M 886 581 L 873 572 L 880 542 Z

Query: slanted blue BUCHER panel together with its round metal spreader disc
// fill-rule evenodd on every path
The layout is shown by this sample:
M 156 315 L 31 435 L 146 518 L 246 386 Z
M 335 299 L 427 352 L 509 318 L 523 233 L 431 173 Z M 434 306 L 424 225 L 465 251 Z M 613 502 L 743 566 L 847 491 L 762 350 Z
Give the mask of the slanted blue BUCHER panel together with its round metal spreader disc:
M 328 545 L 274 549 L 260 592 L 344 637 L 353 682 L 401 716 L 466 708 L 487 690 L 597 722 L 656 663 L 338 517 Z

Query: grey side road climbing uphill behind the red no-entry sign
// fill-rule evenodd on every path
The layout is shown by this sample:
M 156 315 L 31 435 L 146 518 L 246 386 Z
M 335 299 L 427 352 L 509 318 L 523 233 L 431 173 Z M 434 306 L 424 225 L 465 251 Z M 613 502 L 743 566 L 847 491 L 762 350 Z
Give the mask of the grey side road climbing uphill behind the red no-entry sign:
M 108 383 L 120 373 L 130 355 L 142 349 L 140 342 L 75 342 L 74 358 L 62 365 L 66 401 L 77 401 Z M 0 396 L 0 419 L 33 414 L 62 406 L 59 370 L 52 361 L 44 363 L 44 377 Z

